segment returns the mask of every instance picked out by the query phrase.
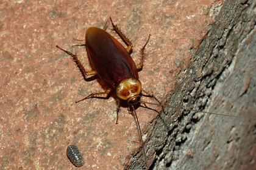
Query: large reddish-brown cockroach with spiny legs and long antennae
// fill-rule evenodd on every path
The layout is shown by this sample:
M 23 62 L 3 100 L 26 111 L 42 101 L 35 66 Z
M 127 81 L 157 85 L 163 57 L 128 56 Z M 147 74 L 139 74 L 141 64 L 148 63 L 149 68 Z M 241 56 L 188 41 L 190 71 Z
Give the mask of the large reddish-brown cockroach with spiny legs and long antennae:
M 135 105 L 142 103 L 145 105 L 145 107 L 147 107 L 146 102 L 141 100 L 141 97 L 144 96 L 154 98 L 157 101 L 157 103 L 160 106 L 162 106 L 160 101 L 154 95 L 147 92 L 141 87 L 141 82 L 138 78 L 138 70 L 141 70 L 141 68 L 143 67 L 144 50 L 149 42 L 149 38 L 151 35 L 148 36 L 148 41 L 146 41 L 146 43 L 142 47 L 140 51 L 140 63 L 136 65 L 132 60 L 132 57 L 130 56 L 133 47 L 132 42 L 124 35 L 124 33 L 121 32 L 121 30 L 118 29 L 117 25 L 113 23 L 111 17 L 110 22 L 113 26 L 113 30 L 115 30 L 115 32 L 127 44 L 127 48 L 125 48 L 117 39 L 115 39 L 112 35 L 105 31 L 105 29 L 107 28 L 107 22 L 104 29 L 99 29 L 97 27 L 89 27 L 87 29 L 87 32 L 85 33 L 84 45 L 87 49 L 88 58 L 94 70 L 85 70 L 84 66 L 82 65 L 76 54 L 68 52 L 60 48 L 59 46 L 56 47 L 66 52 L 68 55 L 72 56 L 72 58 L 84 74 L 85 78 L 87 78 L 87 76 L 90 75 L 98 75 L 99 78 L 108 87 L 108 89 L 106 89 L 104 92 L 90 94 L 82 100 L 77 100 L 76 103 L 86 100 L 88 98 L 102 97 L 102 95 L 105 95 L 104 98 L 108 98 L 110 94 L 114 94 L 116 96 L 117 101 L 117 124 L 120 102 L 127 102 L 128 111 L 136 120 L 143 148 L 145 164 L 146 168 L 148 169 L 146 152 L 144 149 L 143 139 L 141 135 L 140 123 L 135 112 Z

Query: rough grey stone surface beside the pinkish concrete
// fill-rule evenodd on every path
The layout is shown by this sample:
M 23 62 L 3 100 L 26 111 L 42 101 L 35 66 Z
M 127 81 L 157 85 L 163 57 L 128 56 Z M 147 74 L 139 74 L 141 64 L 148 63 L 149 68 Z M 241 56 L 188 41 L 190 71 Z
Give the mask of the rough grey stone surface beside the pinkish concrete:
M 148 157 L 155 157 L 152 169 L 256 167 L 256 2 L 224 1 L 218 9 L 199 49 L 191 49 L 193 62 L 180 73 L 166 115 L 155 124 L 147 145 Z

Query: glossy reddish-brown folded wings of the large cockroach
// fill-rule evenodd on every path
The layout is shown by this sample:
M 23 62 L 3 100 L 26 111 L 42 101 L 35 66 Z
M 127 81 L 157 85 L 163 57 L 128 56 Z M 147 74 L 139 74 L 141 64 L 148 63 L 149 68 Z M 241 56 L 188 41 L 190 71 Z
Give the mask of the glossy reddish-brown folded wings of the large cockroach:
M 105 30 L 88 28 L 85 44 L 93 68 L 107 86 L 115 88 L 121 80 L 138 78 L 138 70 L 130 54 Z

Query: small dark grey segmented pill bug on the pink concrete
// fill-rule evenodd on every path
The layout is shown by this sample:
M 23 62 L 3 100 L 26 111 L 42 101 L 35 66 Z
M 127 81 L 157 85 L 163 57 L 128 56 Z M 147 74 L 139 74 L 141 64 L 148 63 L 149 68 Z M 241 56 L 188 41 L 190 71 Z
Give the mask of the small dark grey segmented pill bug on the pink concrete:
M 84 158 L 76 145 L 69 145 L 66 148 L 66 155 L 74 166 L 81 167 L 84 165 Z

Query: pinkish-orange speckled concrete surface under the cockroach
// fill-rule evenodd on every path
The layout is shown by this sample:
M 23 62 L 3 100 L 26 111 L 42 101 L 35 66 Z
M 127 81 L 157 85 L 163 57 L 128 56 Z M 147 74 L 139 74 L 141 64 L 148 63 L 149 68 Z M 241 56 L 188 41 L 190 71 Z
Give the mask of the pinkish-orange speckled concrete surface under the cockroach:
M 4 1 L 0 4 L 0 169 L 76 169 L 66 157 L 76 144 L 81 169 L 123 169 L 140 147 L 135 121 L 108 100 L 75 101 L 102 91 L 85 81 L 58 44 L 77 52 L 90 70 L 84 47 L 88 27 L 103 27 L 109 16 L 135 45 L 138 63 L 148 35 L 146 62 L 139 73 L 143 88 L 163 103 L 176 85 L 176 74 L 190 63 L 213 23 L 211 7 L 221 1 Z M 108 24 L 110 25 L 110 24 Z M 108 27 L 110 31 L 110 27 Z M 110 31 L 113 35 L 112 31 Z M 160 107 L 155 107 L 160 110 Z M 143 133 L 157 113 L 139 107 Z

